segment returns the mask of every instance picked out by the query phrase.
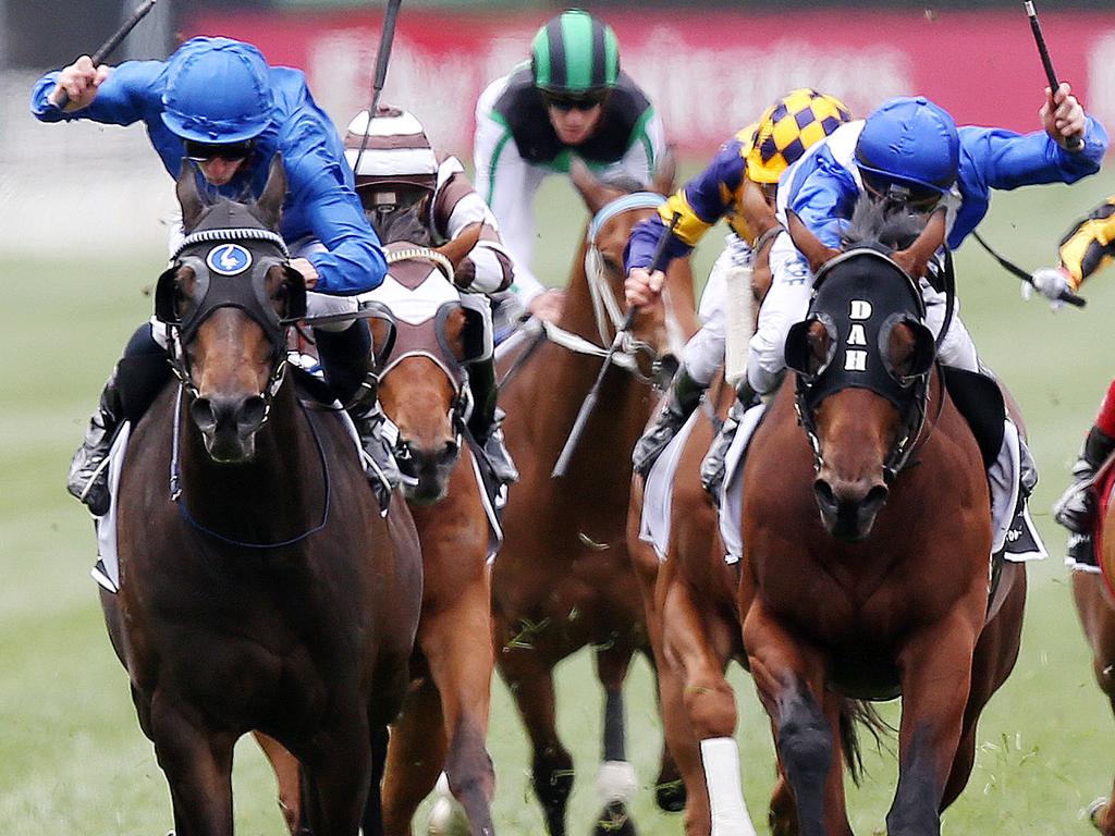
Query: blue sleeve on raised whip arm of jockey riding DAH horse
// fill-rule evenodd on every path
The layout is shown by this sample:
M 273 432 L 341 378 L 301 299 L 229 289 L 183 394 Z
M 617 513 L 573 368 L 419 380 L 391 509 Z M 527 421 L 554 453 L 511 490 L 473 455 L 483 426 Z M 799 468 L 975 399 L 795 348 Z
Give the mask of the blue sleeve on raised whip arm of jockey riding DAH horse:
M 1099 171 L 1107 132 L 1087 117 L 1084 148 L 1070 154 L 1044 130 L 1016 134 L 1002 128 L 963 127 L 961 165 L 972 166 L 987 188 L 1018 188 L 1043 183 L 1075 183 Z

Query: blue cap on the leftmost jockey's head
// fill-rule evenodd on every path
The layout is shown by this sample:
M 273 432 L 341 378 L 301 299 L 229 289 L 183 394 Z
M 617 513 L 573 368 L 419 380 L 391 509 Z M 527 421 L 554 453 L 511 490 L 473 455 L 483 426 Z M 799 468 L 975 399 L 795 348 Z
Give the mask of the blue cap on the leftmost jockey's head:
M 193 38 L 167 61 L 163 123 L 195 143 L 241 143 L 271 121 L 268 62 L 251 43 Z

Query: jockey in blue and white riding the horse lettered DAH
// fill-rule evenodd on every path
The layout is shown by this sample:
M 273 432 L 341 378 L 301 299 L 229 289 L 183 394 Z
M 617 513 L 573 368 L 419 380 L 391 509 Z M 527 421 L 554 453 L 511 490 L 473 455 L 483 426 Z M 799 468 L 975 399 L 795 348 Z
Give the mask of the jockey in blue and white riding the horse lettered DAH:
M 1099 171 L 1107 149 L 1103 126 L 1084 113 L 1068 85 L 1055 94 L 1047 90 L 1046 97 L 1040 111 L 1045 129 L 1025 135 L 957 128 L 946 110 L 923 97 L 891 99 L 865 120 L 837 128 L 786 171 L 778 184 L 778 220 L 785 225 L 787 212 L 794 212 L 824 244 L 838 247 L 853 206 L 866 193 L 912 213 L 943 206 L 947 243 L 957 247 L 987 214 L 991 189 L 1075 183 Z M 1069 152 L 1073 137 L 1082 145 Z M 770 291 L 750 342 L 743 401 L 776 389 L 785 370 L 786 333 L 809 303 L 813 273 L 786 232 L 772 246 L 770 271 Z M 944 324 L 946 298 L 933 280 L 923 279 L 921 289 L 925 322 L 935 336 Z M 987 373 L 959 317 L 949 325 L 939 358 L 947 366 Z M 999 461 L 989 473 L 992 500 L 997 483 L 1014 489 L 996 474 L 997 467 L 1006 467 L 1008 447 L 1014 448 L 1009 457 L 1020 461 L 1024 493 L 1036 482 L 1032 460 L 1016 439 L 1017 430 L 1008 427 Z

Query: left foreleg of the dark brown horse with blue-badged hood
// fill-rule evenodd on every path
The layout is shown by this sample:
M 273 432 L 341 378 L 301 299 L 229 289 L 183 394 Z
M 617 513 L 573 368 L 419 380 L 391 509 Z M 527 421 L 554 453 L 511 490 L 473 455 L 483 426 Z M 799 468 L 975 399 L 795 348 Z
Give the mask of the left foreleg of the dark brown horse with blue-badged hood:
M 156 696 L 151 731 L 171 785 L 177 836 L 232 836 L 232 750 L 235 737 L 207 731 Z

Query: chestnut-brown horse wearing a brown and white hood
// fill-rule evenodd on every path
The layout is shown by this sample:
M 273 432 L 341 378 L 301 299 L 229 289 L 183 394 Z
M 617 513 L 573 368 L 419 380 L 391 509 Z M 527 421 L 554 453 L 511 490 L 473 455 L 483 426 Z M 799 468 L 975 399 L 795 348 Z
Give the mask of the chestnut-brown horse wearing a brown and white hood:
M 415 809 L 444 769 L 468 832 L 494 834 L 495 788 L 485 749 L 492 670 L 489 524 L 474 456 L 462 444 L 468 408 L 467 366 L 489 356 L 483 319 L 462 304 L 452 275 L 478 227 L 437 250 L 387 244 L 389 273 L 361 297 L 371 315 L 379 399 L 397 428 L 423 558 L 423 601 L 411 686 L 391 727 L 384 777 L 384 830 L 410 833 Z M 487 304 L 484 300 L 483 304 Z M 261 741 L 265 742 L 265 741 Z M 291 756 L 265 742 L 279 796 L 299 833 L 300 787 Z M 314 832 L 316 833 L 316 832 Z

